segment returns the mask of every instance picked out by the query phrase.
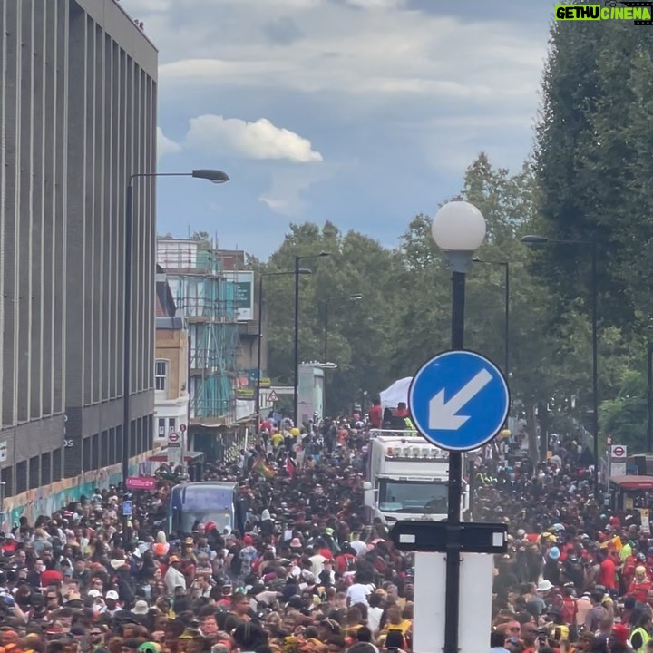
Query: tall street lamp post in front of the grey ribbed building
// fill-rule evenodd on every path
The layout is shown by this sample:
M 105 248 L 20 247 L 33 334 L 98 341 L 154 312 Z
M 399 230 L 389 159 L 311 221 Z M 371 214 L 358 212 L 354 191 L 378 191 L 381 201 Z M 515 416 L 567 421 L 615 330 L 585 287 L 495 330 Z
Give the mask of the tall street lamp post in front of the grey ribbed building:
M 131 394 L 132 394 L 132 245 L 133 245 L 133 184 L 135 180 L 151 177 L 194 177 L 213 183 L 229 181 L 226 172 L 218 170 L 194 170 L 191 172 L 137 172 L 127 180 L 125 193 L 125 263 L 124 307 L 122 331 L 122 488 L 127 489 L 129 476 L 129 445 L 131 441 Z

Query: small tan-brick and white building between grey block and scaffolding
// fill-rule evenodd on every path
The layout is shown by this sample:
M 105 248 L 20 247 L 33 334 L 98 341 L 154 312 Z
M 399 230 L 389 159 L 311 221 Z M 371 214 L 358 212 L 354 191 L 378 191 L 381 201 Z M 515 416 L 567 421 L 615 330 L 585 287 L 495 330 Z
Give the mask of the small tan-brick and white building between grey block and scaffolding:
M 154 367 L 155 446 L 188 423 L 189 336 L 186 318 L 175 306 L 165 274 L 157 266 L 156 360 Z

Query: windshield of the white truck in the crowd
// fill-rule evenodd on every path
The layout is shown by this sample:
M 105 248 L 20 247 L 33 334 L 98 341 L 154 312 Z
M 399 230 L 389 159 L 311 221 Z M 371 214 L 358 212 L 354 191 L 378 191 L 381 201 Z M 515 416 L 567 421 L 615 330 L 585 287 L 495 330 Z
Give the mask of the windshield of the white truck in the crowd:
M 446 514 L 448 486 L 445 482 L 381 479 L 379 510 Z

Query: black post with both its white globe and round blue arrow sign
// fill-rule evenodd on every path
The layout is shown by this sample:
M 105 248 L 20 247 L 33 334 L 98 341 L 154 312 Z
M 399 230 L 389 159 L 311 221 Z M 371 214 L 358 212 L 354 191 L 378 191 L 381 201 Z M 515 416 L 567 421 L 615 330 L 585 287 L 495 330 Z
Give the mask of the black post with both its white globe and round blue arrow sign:
M 447 202 L 434 216 L 431 233 L 452 269 L 452 351 L 423 365 L 408 393 L 417 429 L 426 439 L 450 452 L 443 653 L 459 653 L 460 648 L 463 452 L 481 446 L 499 432 L 509 404 L 507 385 L 496 367 L 482 356 L 463 351 L 465 274 L 474 251 L 485 239 L 485 231 L 481 211 L 466 201 Z M 445 377 L 438 365 L 446 367 L 452 378 Z M 491 405 L 491 397 L 499 406 Z M 486 409 L 490 410 L 487 416 L 483 415 Z M 438 528 L 434 523 L 431 528 Z M 424 574 L 423 578 L 423 582 L 428 579 Z M 485 626 L 481 622 L 477 625 Z

